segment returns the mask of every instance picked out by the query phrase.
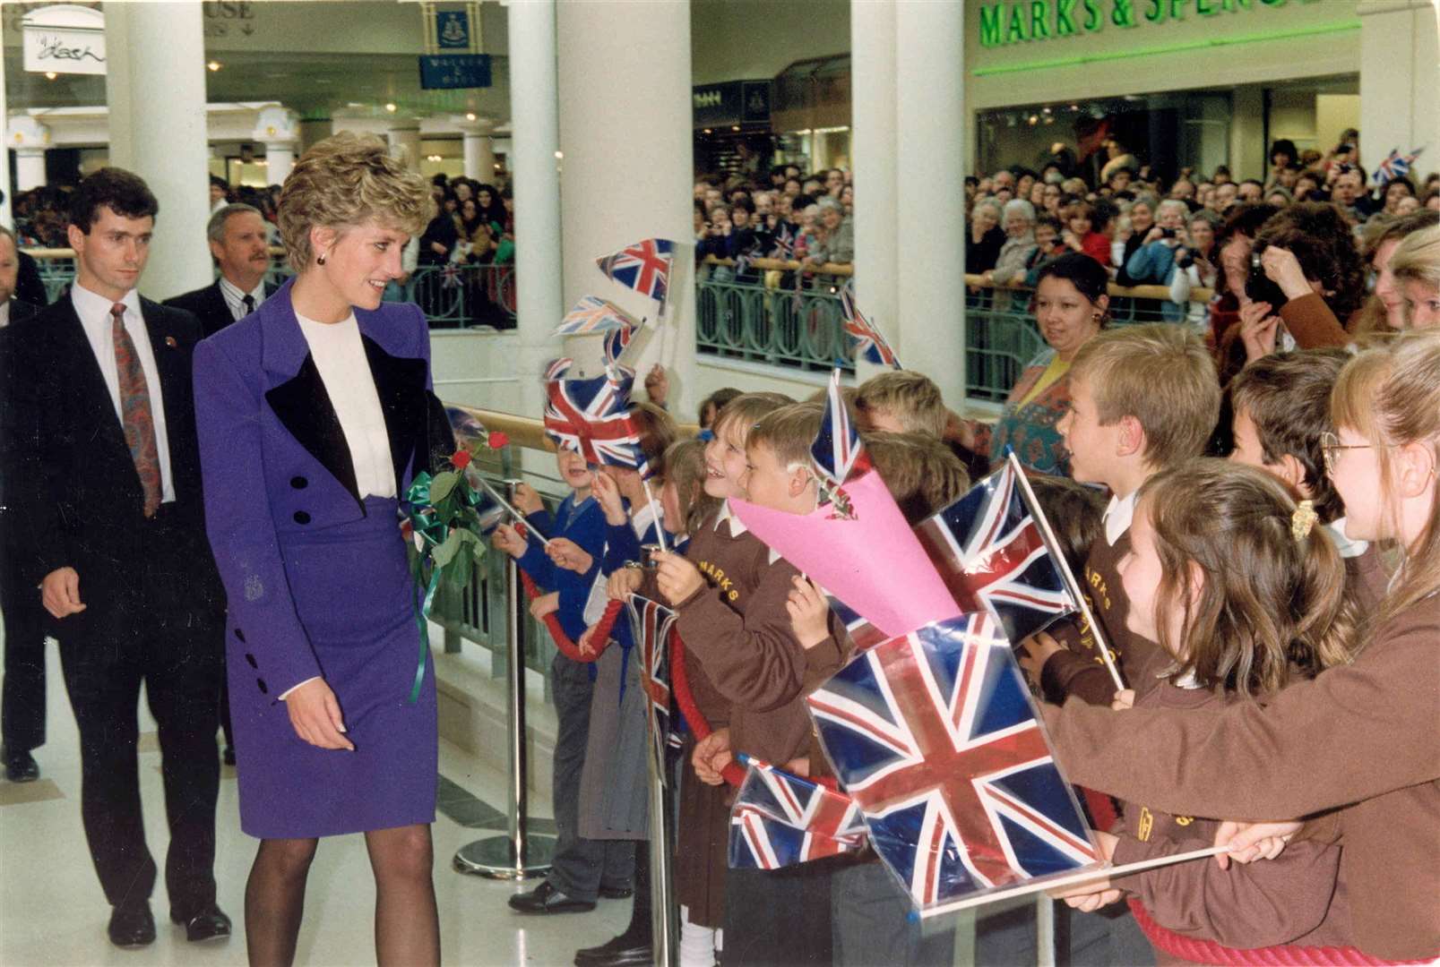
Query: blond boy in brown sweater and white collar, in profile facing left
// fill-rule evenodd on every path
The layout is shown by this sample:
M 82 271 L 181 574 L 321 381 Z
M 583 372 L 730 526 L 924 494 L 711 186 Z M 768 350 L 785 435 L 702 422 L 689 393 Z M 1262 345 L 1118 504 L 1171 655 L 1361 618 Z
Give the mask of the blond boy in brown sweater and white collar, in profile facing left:
M 1071 476 L 1110 491 L 1100 540 L 1090 547 L 1083 583 L 1126 682 L 1146 694 L 1162 671 L 1159 646 L 1126 625 L 1129 601 L 1119 564 L 1130 551 L 1135 496 L 1155 473 L 1200 456 L 1220 416 L 1215 363 L 1189 330 L 1132 325 L 1089 340 L 1070 366 L 1070 412 L 1058 430 Z M 1024 642 L 1021 665 L 1051 695 L 1107 705 L 1115 682 L 1083 629 L 1079 650 L 1041 632 Z

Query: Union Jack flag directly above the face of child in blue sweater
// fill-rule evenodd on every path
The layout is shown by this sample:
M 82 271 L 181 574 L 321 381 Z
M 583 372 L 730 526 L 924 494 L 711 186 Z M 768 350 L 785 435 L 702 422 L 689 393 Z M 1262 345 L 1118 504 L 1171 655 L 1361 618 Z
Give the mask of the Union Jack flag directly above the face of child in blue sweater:
M 556 448 L 575 450 L 590 465 L 631 466 L 648 473 L 639 429 L 629 414 L 632 376 L 609 368 L 593 380 L 567 380 L 569 366 L 550 366 L 546 383 L 544 432 Z

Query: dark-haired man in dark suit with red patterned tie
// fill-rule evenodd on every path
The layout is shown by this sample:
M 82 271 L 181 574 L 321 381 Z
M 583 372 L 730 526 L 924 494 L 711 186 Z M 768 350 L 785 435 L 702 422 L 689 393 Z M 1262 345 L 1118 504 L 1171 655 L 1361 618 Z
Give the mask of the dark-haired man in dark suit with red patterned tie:
M 85 178 L 71 200 L 69 298 L 16 325 L 10 342 L 17 557 L 55 619 L 81 735 L 81 816 L 118 947 L 156 937 L 141 684 L 160 730 L 170 917 L 189 940 L 230 932 L 213 872 L 223 597 L 190 387 L 200 325 L 135 292 L 157 210 L 128 171 Z

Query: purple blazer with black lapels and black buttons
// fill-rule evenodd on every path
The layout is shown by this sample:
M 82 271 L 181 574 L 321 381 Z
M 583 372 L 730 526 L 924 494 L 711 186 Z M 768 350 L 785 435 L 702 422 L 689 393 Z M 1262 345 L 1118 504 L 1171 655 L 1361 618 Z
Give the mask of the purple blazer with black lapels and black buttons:
M 229 599 L 226 643 L 269 704 L 320 675 L 291 596 L 281 541 L 366 514 L 340 420 L 295 319 L 287 282 L 194 351 L 206 532 Z M 431 391 L 429 327 L 410 304 L 356 309 L 403 499 L 454 440 Z M 235 695 L 232 702 L 243 701 Z

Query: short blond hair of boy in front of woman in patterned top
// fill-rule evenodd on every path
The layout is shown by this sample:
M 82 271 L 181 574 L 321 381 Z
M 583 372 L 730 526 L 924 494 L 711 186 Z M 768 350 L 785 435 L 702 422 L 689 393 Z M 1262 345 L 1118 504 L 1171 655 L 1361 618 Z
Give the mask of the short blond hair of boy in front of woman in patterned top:
M 1139 422 L 1155 469 L 1200 456 L 1220 419 L 1215 361 L 1198 335 L 1172 322 L 1100 332 L 1076 353 L 1070 378 L 1090 387 L 1103 426 Z

